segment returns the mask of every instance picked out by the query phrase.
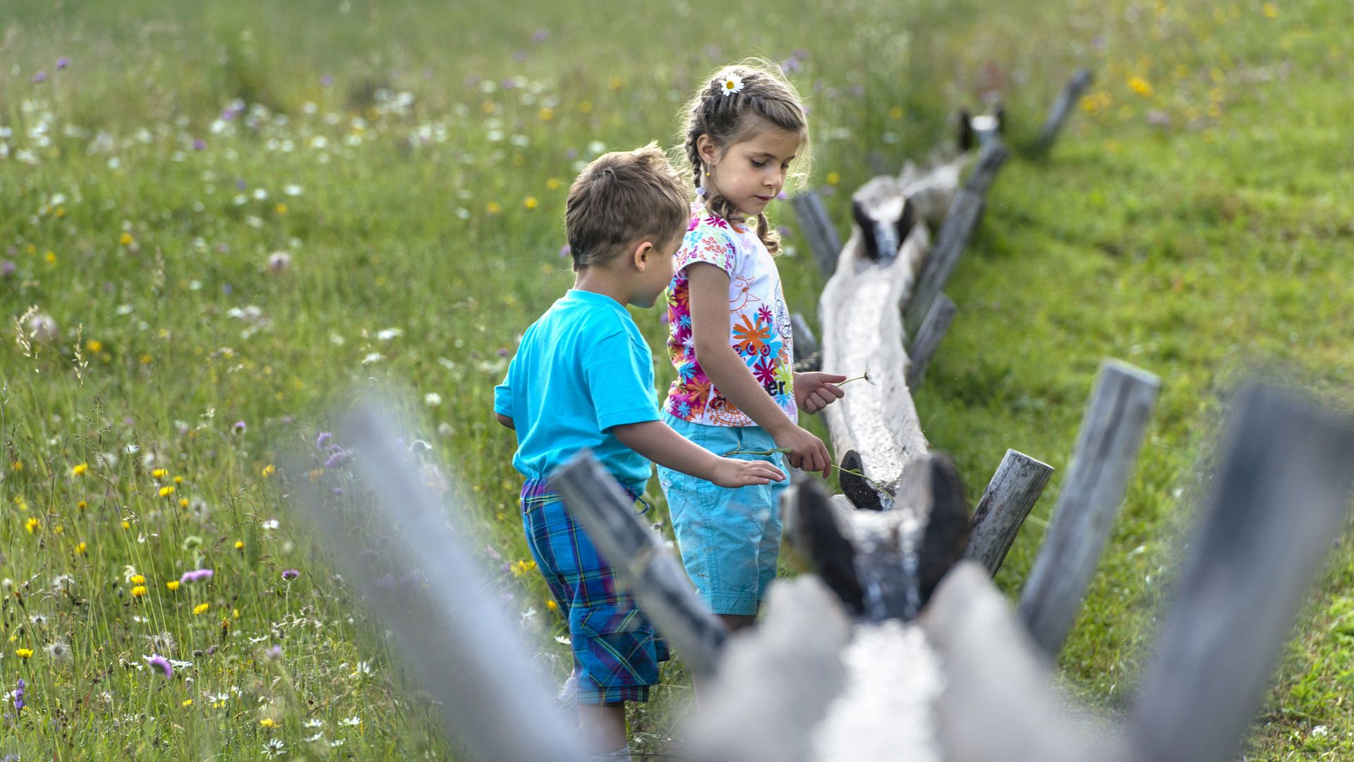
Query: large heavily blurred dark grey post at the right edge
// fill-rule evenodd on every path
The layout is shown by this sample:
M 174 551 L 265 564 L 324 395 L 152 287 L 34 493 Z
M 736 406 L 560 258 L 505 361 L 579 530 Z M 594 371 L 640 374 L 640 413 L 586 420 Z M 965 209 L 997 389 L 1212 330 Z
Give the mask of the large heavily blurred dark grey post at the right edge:
M 1131 723 L 1155 762 L 1235 758 L 1303 593 L 1349 512 L 1354 420 L 1261 384 L 1236 397 L 1229 418 L 1193 560 Z

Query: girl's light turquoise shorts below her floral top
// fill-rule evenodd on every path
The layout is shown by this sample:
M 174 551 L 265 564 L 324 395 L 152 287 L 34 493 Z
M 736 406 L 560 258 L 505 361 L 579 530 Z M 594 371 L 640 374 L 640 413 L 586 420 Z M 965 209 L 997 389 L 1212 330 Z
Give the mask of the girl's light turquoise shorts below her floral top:
M 760 426 L 707 426 L 668 413 L 663 422 L 715 455 L 776 448 Z M 756 614 L 776 579 L 780 494 L 789 486 L 789 468 L 779 452 L 730 457 L 768 460 L 785 472 L 785 480 L 733 490 L 659 466 L 658 483 L 668 497 L 682 566 L 700 597 L 716 614 Z

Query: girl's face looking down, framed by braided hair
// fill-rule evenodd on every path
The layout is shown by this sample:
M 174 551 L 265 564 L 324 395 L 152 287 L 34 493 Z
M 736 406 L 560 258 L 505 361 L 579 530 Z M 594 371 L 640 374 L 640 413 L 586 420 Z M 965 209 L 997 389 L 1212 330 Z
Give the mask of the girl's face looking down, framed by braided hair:
M 800 142 L 799 133 L 770 126 L 724 148 L 716 146 L 709 135 L 701 135 L 696 149 L 709 171 L 703 184 L 734 202 L 742 214 L 757 217 L 785 187 L 789 162 Z

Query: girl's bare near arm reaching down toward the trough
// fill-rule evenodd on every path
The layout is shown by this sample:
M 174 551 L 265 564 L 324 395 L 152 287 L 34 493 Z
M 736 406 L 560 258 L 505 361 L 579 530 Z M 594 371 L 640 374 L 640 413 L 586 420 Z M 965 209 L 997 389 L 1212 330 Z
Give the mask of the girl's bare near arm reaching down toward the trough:
M 776 444 L 789 448 L 789 464 L 804 471 L 831 475 L 827 447 L 800 428 L 776 405 L 753 378 L 751 369 L 728 344 L 728 273 L 708 263 L 686 265 L 691 295 L 691 332 L 696 341 L 696 361 L 735 407 L 766 429 Z

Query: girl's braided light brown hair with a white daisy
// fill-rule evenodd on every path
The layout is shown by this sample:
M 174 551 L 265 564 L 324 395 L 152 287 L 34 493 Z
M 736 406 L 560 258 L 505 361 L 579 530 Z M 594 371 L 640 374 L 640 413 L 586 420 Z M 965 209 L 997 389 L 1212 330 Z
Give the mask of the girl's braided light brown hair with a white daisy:
M 737 80 L 735 80 L 737 79 Z M 741 80 L 742 89 L 726 92 L 730 80 Z M 808 119 L 804 104 L 795 85 L 789 84 L 780 66 L 760 58 L 749 58 L 731 64 L 715 72 L 696 91 L 682 108 L 681 138 L 691 161 L 692 180 L 701 187 L 705 162 L 700 158 L 696 141 L 709 135 L 720 150 L 751 138 L 766 127 L 798 133 L 802 148 L 795 158 L 795 166 L 788 180 L 799 180 L 808 173 Z M 705 192 L 705 208 L 730 222 L 743 222 L 745 215 L 734 203 L 718 194 Z M 765 214 L 757 215 L 757 237 L 766 250 L 780 250 L 780 234 L 766 222 Z

